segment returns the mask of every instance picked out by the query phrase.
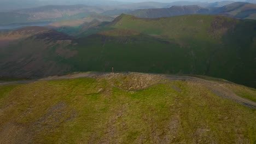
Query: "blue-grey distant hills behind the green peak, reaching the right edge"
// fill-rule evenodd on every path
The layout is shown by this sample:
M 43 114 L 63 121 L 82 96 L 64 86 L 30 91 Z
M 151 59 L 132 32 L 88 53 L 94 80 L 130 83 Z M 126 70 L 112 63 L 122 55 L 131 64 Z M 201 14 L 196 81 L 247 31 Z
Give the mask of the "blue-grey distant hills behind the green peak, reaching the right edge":
M 220 8 L 202 8 L 197 5 L 173 6 L 161 9 L 140 9 L 128 14 L 143 17 L 157 18 L 185 14 L 218 14 L 239 19 L 256 19 L 256 4 L 235 2 Z

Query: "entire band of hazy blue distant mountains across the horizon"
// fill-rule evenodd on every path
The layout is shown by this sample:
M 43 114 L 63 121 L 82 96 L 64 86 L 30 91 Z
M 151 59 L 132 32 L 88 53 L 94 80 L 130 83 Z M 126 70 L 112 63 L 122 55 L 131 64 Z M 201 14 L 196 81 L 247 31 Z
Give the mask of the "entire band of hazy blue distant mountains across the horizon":
M 255 5 L 256 4 L 243 2 L 234 3 L 232 1 L 207 4 L 202 2 L 143 2 L 116 6 L 88 6 L 82 4 L 46 5 L 36 8 L 2 12 L 0 13 L 0 25 L 26 22 L 53 22 L 62 20 L 78 20 L 80 21 L 79 24 L 81 25 L 82 22 L 85 22 L 82 19 L 90 17 L 90 15 L 101 14 L 116 17 L 121 13 L 132 14 L 137 17 L 145 18 L 184 14 L 219 14 L 240 19 L 255 19 Z

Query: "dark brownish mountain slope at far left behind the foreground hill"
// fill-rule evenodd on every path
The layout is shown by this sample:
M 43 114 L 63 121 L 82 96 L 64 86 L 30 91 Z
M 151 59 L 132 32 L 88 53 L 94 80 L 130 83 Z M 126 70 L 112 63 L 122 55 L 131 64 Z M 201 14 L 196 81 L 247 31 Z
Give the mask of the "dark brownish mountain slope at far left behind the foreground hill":
M 1 75 L 40 77 L 65 73 L 71 66 L 61 64 L 62 59 L 74 56 L 74 38 L 51 29 L 27 27 L 9 32 L 7 38 L 14 39 L 0 49 Z M 37 31 L 37 32 L 35 32 Z M 33 34 L 32 34 L 33 33 Z M 68 49 L 66 49 L 68 47 Z M 19 77 L 19 76 L 18 76 Z

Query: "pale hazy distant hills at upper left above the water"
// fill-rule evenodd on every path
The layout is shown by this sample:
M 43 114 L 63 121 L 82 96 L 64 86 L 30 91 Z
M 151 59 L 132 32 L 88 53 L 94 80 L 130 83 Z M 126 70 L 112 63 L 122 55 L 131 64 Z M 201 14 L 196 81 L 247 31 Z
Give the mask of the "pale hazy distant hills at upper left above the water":
M 43 7 L 0 13 L 0 23 L 57 21 L 83 19 L 90 14 L 103 13 L 103 9 L 87 5 L 47 5 Z

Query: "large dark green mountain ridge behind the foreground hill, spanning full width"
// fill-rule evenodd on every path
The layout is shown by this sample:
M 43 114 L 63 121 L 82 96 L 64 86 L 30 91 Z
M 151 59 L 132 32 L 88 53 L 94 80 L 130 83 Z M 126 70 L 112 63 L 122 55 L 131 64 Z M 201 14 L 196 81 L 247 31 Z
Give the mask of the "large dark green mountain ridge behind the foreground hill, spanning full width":
M 216 15 L 141 19 L 122 14 L 110 24 L 91 23 L 84 29 L 85 37 L 68 37 L 68 44 L 58 44 L 62 38 L 52 33 L 52 37 L 31 37 L 22 40 L 22 45 L 9 45 L 0 57 L 0 75 L 40 77 L 71 71 L 110 71 L 114 67 L 117 71 L 208 75 L 256 87 L 254 20 Z M 52 69 L 43 71 L 40 63 L 31 64 L 37 57 L 31 51 L 36 49 L 42 50 L 39 56 L 46 57 L 37 60 L 50 59 Z M 18 50 L 24 53 L 10 61 L 9 55 L 15 56 Z

